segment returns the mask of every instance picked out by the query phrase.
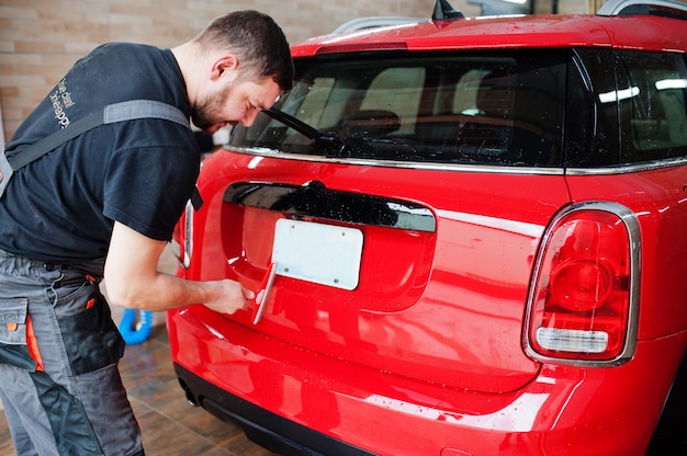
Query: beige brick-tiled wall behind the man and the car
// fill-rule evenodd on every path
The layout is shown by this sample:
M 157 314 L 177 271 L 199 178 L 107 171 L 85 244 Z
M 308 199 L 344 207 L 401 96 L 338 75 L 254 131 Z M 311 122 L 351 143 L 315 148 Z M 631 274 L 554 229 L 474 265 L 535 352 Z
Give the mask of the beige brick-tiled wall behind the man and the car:
M 549 12 L 553 0 L 536 0 Z M 602 0 L 587 0 L 600 2 Z M 685 0 L 687 1 L 687 0 Z M 478 4 L 450 0 L 465 15 Z M 365 15 L 429 18 L 435 0 L 0 0 L 0 106 L 4 138 L 81 56 L 101 43 L 128 41 L 172 47 L 232 10 L 272 15 L 291 43 Z M 559 11 L 586 2 L 558 0 Z

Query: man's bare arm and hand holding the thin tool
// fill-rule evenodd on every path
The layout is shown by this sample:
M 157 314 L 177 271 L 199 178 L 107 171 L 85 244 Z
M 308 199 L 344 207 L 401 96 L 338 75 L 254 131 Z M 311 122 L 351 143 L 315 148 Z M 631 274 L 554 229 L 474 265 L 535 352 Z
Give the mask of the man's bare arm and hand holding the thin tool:
M 187 281 L 157 271 L 167 242 L 147 238 L 114 224 L 105 259 L 105 285 L 111 304 L 131 309 L 167 310 L 205 304 L 222 314 L 234 314 L 255 294 L 230 280 Z

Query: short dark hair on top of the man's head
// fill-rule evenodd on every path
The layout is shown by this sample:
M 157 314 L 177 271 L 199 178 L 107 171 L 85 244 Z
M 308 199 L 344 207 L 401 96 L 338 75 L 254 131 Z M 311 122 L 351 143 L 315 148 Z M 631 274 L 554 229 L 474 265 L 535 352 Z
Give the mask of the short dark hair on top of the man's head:
M 244 68 L 270 77 L 283 91 L 293 84 L 293 60 L 286 36 L 272 18 L 258 11 L 234 11 L 215 19 L 198 36 L 201 48 L 236 53 Z

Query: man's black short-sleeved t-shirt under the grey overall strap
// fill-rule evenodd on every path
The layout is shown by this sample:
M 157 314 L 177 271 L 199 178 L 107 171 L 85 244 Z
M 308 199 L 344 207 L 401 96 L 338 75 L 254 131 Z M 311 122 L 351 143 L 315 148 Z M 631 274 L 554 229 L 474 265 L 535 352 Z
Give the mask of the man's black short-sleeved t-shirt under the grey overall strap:
M 190 114 L 169 49 L 108 44 L 79 60 L 7 144 L 8 156 L 70 122 L 128 100 Z M 76 264 L 106 254 L 113 220 L 169 240 L 200 168 L 193 134 L 145 118 L 97 127 L 16 172 L 0 201 L 0 249 Z

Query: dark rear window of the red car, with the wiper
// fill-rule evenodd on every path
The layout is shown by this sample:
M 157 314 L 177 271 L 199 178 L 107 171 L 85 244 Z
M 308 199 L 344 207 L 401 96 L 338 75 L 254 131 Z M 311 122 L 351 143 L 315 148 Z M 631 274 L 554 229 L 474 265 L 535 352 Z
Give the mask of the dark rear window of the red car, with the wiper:
M 368 54 L 296 60 L 277 106 L 333 150 L 261 115 L 232 145 L 432 163 L 561 166 L 566 53 Z

